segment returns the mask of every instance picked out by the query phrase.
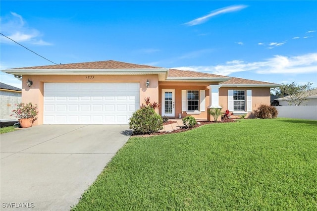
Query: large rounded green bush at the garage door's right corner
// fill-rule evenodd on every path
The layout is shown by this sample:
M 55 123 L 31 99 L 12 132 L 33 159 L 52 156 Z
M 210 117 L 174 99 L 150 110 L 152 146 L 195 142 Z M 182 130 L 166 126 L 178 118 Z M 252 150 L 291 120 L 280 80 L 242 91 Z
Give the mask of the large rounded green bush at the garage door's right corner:
M 132 114 L 129 126 L 134 134 L 151 134 L 163 129 L 163 120 L 153 107 L 143 106 Z

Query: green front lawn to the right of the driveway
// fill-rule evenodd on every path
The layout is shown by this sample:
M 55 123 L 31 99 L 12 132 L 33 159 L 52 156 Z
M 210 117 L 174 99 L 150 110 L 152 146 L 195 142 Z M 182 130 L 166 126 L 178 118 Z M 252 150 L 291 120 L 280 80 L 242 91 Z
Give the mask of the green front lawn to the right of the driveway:
M 132 137 L 74 210 L 317 210 L 317 121 Z

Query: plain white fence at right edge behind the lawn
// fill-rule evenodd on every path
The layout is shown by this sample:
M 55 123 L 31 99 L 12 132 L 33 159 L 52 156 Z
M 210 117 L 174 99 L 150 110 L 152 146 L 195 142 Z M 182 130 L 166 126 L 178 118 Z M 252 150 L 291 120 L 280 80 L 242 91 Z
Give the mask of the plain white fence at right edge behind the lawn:
M 317 120 L 317 106 L 275 106 L 277 117 L 315 119 Z

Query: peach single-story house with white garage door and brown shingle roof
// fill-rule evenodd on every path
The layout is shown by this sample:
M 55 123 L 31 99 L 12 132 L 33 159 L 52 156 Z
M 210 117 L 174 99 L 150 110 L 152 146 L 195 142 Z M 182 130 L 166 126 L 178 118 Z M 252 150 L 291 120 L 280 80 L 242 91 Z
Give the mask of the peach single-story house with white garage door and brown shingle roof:
M 22 102 L 39 106 L 35 124 L 128 124 L 147 97 L 171 118 L 211 119 L 208 110 L 220 106 L 240 115 L 270 105 L 270 88 L 279 86 L 113 60 L 2 71 L 23 77 Z

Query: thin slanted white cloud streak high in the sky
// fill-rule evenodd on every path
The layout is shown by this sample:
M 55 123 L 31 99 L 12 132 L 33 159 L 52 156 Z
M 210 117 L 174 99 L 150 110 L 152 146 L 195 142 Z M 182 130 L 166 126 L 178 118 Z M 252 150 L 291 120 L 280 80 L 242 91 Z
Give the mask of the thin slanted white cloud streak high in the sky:
M 211 11 L 208 15 L 205 15 L 205 16 L 200 17 L 200 18 L 196 18 L 196 19 L 189 21 L 187 23 L 184 23 L 184 24 L 189 25 L 189 26 L 199 25 L 199 24 L 205 23 L 213 16 L 228 13 L 228 12 L 239 11 L 239 10 L 244 9 L 246 7 L 247 7 L 247 5 L 232 5 L 232 6 L 223 7 L 223 8 Z

